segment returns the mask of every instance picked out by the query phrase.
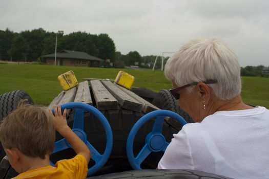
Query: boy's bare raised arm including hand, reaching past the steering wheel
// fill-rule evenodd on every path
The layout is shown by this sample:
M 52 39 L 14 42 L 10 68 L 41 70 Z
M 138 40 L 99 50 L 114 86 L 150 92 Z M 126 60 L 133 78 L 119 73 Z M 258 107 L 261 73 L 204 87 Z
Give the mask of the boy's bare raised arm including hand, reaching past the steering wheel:
M 50 113 L 52 114 L 51 109 Z M 66 140 L 71 144 L 74 151 L 85 157 L 88 164 L 91 159 L 91 152 L 86 144 L 67 125 L 66 109 L 64 110 L 63 115 L 61 115 L 61 106 L 54 106 L 54 126 L 60 135 L 66 138 Z

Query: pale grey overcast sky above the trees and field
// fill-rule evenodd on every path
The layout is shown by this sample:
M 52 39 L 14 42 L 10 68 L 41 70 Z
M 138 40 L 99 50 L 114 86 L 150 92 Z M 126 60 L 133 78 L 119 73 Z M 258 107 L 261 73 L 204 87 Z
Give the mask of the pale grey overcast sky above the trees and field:
M 215 37 L 230 44 L 241 66 L 269 66 L 268 0 L 0 0 L 0 30 L 6 28 L 107 33 L 117 51 L 142 56 Z

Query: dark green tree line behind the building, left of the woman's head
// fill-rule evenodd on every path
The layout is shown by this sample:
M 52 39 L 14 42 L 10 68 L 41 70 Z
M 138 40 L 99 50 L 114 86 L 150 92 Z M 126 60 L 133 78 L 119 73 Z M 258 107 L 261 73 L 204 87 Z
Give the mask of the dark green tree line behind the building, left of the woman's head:
M 104 33 L 97 35 L 78 31 L 64 35 L 63 31 L 47 32 L 42 28 L 16 33 L 7 28 L 5 31 L 0 30 L 0 60 L 44 62 L 41 56 L 55 53 L 56 35 L 57 52 L 73 50 L 104 60 L 110 59 L 113 68 L 130 65 L 152 68 L 156 59 L 154 55 L 142 57 L 137 51 L 131 51 L 126 55 L 116 52 L 113 39 Z M 167 59 L 168 57 L 165 57 L 164 60 Z M 159 57 L 156 69 L 160 67 Z

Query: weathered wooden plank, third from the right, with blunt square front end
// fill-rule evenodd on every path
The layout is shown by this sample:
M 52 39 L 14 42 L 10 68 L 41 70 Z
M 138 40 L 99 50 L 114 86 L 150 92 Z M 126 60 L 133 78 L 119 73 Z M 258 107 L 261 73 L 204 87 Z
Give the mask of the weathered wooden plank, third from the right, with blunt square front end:
M 99 110 L 118 109 L 118 101 L 99 80 L 90 81 L 96 106 Z

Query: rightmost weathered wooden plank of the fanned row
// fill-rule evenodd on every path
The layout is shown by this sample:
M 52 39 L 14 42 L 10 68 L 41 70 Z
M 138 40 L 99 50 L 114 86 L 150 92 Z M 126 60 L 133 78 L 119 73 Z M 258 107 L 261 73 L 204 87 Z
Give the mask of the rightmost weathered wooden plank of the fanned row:
M 153 110 L 158 110 L 160 108 L 154 106 L 153 104 L 151 104 L 149 101 L 144 100 L 143 98 L 141 98 L 140 96 L 136 95 L 134 92 L 130 91 L 129 89 L 126 89 L 125 87 L 122 87 L 118 84 L 115 84 L 118 88 L 121 89 L 121 91 L 125 92 L 126 94 L 128 94 L 129 96 L 131 96 L 132 98 L 136 99 L 138 102 L 140 102 L 143 106 L 142 106 L 142 111 L 143 113 L 149 113 Z

